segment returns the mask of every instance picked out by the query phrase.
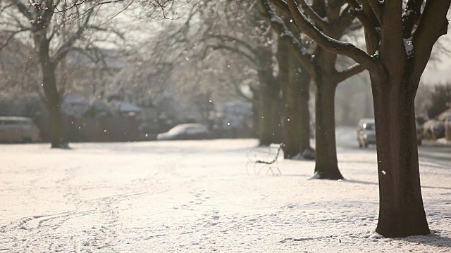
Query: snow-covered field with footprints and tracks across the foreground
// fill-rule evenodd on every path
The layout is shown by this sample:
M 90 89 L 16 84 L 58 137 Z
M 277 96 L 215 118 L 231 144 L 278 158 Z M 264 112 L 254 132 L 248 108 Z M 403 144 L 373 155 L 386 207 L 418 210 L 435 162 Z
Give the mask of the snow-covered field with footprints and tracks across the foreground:
M 374 233 L 374 150 L 248 175 L 255 140 L 0 145 L 0 252 L 451 252 L 451 168 L 420 161 L 432 234 Z

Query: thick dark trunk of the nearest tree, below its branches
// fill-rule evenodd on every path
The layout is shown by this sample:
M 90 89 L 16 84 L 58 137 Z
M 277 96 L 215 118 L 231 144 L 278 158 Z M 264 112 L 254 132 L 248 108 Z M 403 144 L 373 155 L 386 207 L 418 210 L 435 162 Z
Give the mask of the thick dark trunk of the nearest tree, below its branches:
M 390 238 L 429 233 L 416 144 L 414 98 L 418 83 L 409 75 L 371 78 L 380 199 L 376 231 Z

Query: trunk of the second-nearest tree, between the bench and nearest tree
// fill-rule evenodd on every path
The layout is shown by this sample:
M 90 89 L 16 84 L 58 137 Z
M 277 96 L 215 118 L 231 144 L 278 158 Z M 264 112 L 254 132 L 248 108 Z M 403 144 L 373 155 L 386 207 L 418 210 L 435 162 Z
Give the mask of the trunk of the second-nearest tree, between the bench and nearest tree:
M 317 76 L 315 100 L 316 164 L 314 179 L 343 179 L 335 141 L 335 89 L 330 78 Z

